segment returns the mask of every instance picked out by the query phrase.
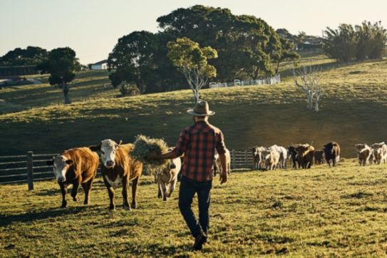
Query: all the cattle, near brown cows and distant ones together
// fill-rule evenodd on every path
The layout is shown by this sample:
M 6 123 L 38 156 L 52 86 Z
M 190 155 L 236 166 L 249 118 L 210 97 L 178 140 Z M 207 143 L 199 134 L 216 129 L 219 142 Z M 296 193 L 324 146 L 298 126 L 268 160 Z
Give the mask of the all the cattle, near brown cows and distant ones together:
M 387 145 L 374 143 L 371 146 L 357 144 L 358 162 L 360 165 L 366 165 L 387 161 Z M 71 197 L 77 201 L 78 188 L 81 185 L 85 192 L 84 204 L 90 201 L 91 186 L 97 174 L 97 168 L 101 160 L 101 174 L 103 182 L 108 189 L 110 199 L 110 210 L 115 210 L 114 190 L 120 186 L 123 187 L 123 207 L 125 210 L 136 208 L 136 192 L 138 181 L 143 173 L 143 163 L 135 160 L 131 156 L 134 145 L 131 143 L 121 144 L 107 139 L 102 140 L 100 144 L 85 148 L 73 148 L 64 150 L 60 155 L 47 161 L 47 165 L 53 166 L 53 173 L 56 176 L 62 193 L 62 206 L 67 206 L 66 192 L 68 185 L 73 185 Z M 100 153 L 100 158 L 98 157 Z M 336 165 L 340 160 L 340 146 L 336 142 L 327 143 L 322 150 L 315 150 L 312 145 L 298 144 L 291 145 L 288 148 L 272 145 L 269 148 L 252 148 L 254 158 L 254 167 L 260 170 L 275 170 L 277 167 L 286 168 L 286 160 L 291 160 L 294 168 L 310 168 L 315 162 L 322 164 L 327 162 L 329 166 Z M 226 152 L 227 167 L 230 170 L 231 157 L 229 150 Z M 158 172 L 155 177 L 158 182 L 158 197 L 167 200 L 175 189 L 177 175 L 180 172 L 182 160 L 175 158 L 169 160 L 169 165 L 164 170 Z M 216 174 L 220 170 L 219 155 L 215 154 L 213 170 Z M 132 202 L 128 202 L 128 187 L 132 182 Z

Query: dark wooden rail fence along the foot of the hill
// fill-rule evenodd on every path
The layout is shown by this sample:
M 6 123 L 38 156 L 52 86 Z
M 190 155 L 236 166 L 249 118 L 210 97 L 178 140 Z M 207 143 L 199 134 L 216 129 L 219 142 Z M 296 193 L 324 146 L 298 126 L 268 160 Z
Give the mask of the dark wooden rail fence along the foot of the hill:
M 253 168 L 252 153 L 249 150 L 231 150 L 231 168 Z M 0 156 L 0 185 L 7 183 L 27 183 L 33 190 L 33 182 L 52 180 L 52 166 L 47 160 L 58 154 L 33 154 Z

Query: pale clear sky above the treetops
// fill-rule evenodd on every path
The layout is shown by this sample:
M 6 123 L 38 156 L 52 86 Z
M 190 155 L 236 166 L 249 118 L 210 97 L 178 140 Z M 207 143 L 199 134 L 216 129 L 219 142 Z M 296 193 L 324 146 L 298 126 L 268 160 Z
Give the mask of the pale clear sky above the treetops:
M 321 36 L 327 26 L 364 20 L 387 26 L 386 0 L 0 0 L 0 56 L 16 47 L 69 46 L 81 63 L 96 63 L 108 57 L 118 38 L 157 32 L 158 17 L 195 4 L 254 15 L 294 34 Z

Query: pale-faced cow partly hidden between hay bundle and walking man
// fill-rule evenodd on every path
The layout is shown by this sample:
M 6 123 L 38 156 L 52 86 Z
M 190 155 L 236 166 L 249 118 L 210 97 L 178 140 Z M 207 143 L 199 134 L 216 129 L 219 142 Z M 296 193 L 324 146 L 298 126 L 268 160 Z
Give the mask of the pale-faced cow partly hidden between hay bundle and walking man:
M 162 197 L 163 201 L 166 201 L 172 194 L 173 190 L 175 190 L 177 175 L 179 174 L 181 167 L 182 162 L 180 157 L 178 157 L 168 160 L 167 167 L 156 173 L 156 180 L 158 182 L 158 197 Z

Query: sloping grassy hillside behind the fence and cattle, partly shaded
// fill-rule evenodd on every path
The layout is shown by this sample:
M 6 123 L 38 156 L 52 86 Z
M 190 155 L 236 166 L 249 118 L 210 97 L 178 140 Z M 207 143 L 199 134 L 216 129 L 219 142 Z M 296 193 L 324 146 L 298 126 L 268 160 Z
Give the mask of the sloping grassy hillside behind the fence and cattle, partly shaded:
M 387 140 L 386 60 L 341 67 L 321 56 L 302 62 L 322 63 L 324 96 L 319 113 L 306 110 L 303 93 L 289 77 L 275 86 L 201 92 L 216 111 L 211 122 L 224 131 L 230 149 L 305 142 L 321 148 L 336 140 L 343 156 L 351 158 L 356 155 L 355 143 Z M 289 73 L 289 67 L 283 72 Z M 174 145 L 180 130 L 192 123 L 185 114 L 192 107 L 191 91 L 114 98 L 117 90 L 103 89 L 106 80 L 105 76 L 78 77 L 79 87 L 71 89 L 74 103 L 66 106 L 61 104 L 61 92 L 46 84 L 1 90 L 0 99 L 7 105 L 31 108 L 0 115 L 0 143 L 6 146 L 0 155 L 58 152 L 104 138 L 131 142 L 139 133 Z

